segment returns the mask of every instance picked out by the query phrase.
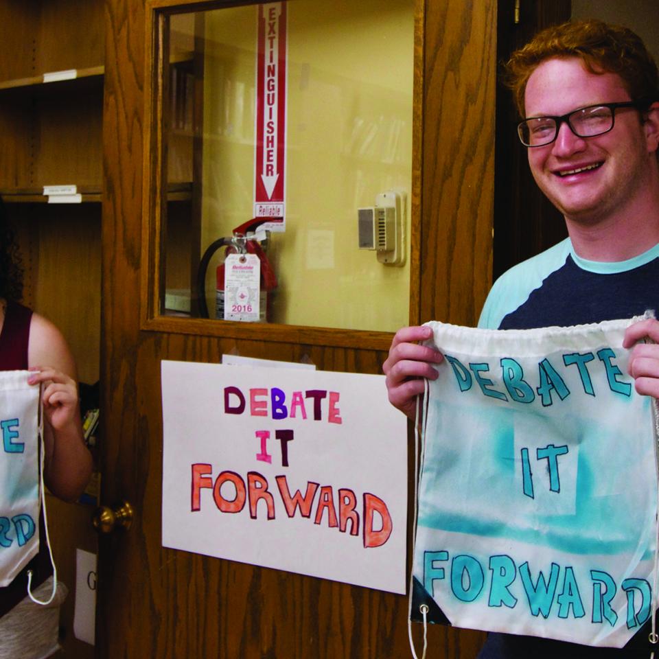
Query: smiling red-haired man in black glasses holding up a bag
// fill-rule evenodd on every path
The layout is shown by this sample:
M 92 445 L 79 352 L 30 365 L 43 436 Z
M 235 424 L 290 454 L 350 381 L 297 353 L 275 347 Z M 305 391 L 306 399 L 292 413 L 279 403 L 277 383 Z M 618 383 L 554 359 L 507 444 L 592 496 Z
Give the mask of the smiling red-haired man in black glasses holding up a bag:
M 507 65 L 537 185 L 563 213 L 568 238 L 502 275 L 479 321 L 530 329 L 659 312 L 659 76 L 636 34 L 601 21 L 550 27 Z M 384 362 L 391 404 L 414 418 L 423 378 L 443 356 L 404 327 Z M 649 337 L 651 342 L 636 344 Z M 627 329 L 636 390 L 659 397 L 659 322 Z M 649 656 L 649 623 L 623 649 L 489 634 L 479 657 Z M 646 653 L 647 654 L 643 654 Z

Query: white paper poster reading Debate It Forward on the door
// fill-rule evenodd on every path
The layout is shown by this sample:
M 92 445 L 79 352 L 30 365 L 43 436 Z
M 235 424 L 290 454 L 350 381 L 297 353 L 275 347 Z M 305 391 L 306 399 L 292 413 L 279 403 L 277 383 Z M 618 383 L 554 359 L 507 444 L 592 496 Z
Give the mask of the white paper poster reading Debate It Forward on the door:
M 405 592 L 407 425 L 381 375 L 161 372 L 163 546 Z

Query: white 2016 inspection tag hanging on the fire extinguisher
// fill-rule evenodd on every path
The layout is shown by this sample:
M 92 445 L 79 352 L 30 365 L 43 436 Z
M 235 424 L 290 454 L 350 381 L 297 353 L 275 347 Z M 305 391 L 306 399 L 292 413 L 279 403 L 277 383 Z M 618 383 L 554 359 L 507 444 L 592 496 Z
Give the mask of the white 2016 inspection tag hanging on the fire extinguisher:
M 224 320 L 259 321 L 261 262 L 255 254 L 229 254 L 224 261 Z

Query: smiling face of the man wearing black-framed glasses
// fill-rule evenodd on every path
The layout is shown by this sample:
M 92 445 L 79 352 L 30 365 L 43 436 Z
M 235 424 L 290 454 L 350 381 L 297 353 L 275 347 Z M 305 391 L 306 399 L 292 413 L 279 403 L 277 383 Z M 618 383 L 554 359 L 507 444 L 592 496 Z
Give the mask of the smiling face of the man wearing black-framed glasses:
M 579 58 L 542 62 L 524 95 L 527 117 L 629 100 L 616 73 L 590 73 Z M 568 222 L 593 224 L 624 218 L 638 207 L 648 177 L 656 176 L 653 145 L 638 111 L 624 108 L 616 110 L 614 128 L 604 135 L 577 137 L 561 124 L 553 143 L 528 149 L 529 165 L 537 185 Z

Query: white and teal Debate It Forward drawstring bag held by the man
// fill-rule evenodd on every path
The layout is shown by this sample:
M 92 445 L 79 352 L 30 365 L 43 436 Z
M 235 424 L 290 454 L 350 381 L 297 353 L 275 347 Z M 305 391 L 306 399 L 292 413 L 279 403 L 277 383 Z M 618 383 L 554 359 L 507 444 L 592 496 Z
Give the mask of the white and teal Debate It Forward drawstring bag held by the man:
M 425 397 L 411 619 L 623 647 L 656 610 L 656 402 L 627 375 L 632 322 L 427 323 L 445 359 Z

